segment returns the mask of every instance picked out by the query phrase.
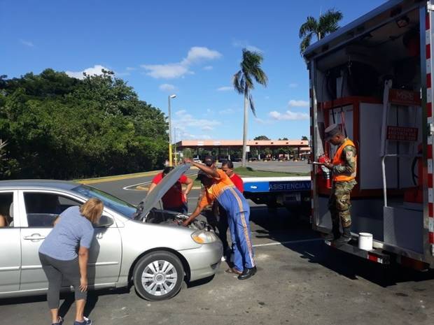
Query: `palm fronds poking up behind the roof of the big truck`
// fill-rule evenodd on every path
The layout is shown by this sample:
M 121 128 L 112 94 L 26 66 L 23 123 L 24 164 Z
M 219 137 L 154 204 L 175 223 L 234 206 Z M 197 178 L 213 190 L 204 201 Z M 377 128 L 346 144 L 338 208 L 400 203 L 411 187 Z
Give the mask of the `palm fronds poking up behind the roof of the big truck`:
M 304 50 L 310 45 L 312 36 L 316 36 L 316 41 L 324 38 L 327 34 L 339 28 L 339 20 L 342 20 L 342 13 L 339 10 L 329 9 L 319 15 L 318 20 L 314 17 L 307 17 L 306 22 L 300 27 L 298 37 L 302 38 L 300 43 L 300 55 L 303 56 Z

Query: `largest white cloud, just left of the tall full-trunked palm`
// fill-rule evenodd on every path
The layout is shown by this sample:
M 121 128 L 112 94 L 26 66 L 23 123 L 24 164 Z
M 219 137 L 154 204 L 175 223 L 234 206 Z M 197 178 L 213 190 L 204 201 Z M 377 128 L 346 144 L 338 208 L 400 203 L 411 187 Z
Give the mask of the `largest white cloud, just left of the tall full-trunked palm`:
M 188 51 L 187 57 L 182 59 L 181 62 L 169 64 L 142 64 L 141 68 L 147 71 L 147 75 L 152 78 L 159 79 L 174 79 L 181 78 L 186 74 L 194 74 L 190 70 L 193 64 L 199 64 L 206 60 L 214 60 L 221 57 L 221 54 L 216 50 L 209 50 L 200 46 L 194 46 Z

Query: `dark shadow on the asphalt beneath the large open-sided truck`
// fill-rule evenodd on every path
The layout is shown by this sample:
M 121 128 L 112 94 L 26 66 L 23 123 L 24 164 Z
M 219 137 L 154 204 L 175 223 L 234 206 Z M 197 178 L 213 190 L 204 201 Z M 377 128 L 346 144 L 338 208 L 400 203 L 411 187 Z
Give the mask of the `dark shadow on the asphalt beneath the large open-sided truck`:
M 300 258 L 307 259 L 309 263 L 318 263 L 351 280 L 363 277 L 381 287 L 390 287 L 399 282 L 421 282 L 434 279 L 434 270 L 421 272 L 404 268 L 398 264 L 384 266 L 325 245 L 323 240 L 318 240 L 321 238 L 318 233 L 311 230 L 309 219 L 291 215 L 283 208 L 271 213 L 267 212 L 267 208 L 251 208 L 250 219 L 260 227 L 253 231 L 253 237 L 269 238 L 282 243 L 284 247 L 299 253 Z M 297 240 L 308 241 L 297 243 Z M 312 272 L 308 267 L 295 268 L 290 264 L 287 268 L 300 272 Z

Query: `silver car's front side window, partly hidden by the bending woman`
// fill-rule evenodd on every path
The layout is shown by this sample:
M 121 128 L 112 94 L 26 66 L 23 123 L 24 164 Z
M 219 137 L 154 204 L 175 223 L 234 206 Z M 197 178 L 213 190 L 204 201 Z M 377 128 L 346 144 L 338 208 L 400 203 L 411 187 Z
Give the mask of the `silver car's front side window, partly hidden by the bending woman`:
M 66 196 L 50 193 L 27 192 L 24 201 L 29 227 L 50 227 L 67 208 L 81 203 Z

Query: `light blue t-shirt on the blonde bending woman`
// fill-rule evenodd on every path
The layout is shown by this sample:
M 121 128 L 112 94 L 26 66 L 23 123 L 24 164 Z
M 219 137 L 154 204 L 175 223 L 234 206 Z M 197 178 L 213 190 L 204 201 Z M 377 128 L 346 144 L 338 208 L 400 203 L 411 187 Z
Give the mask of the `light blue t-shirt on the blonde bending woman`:
M 80 215 L 80 208 L 67 208 L 60 215 L 60 220 L 45 237 L 39 252 L 53 259 L 71 261 L 77 257 L 77 248 L 90 247 L 94 229 L 92 222 Z

